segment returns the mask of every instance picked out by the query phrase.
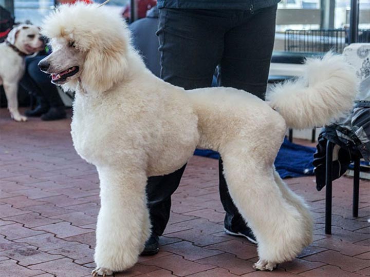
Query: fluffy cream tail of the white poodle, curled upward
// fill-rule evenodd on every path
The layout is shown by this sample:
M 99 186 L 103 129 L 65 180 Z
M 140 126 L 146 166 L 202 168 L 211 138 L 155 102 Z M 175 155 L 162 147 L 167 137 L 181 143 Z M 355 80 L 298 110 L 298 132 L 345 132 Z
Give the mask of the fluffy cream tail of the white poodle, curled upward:
M 298 80 L 276 85 L 266 95 L 289 128 L 324 126 L 352 109 L 359 82 L 343 56 L 329 52 L 308 59 L 304 67 Z

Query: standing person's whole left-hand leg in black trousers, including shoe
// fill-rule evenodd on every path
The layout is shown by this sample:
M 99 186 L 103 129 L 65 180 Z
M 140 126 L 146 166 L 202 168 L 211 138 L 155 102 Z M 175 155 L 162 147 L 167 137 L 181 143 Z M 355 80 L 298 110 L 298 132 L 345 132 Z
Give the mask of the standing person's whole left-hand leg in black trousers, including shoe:
M 223 52 L 223 31 L 219 16 L 212 11 L 162 9 L 159 17 L 160 77 L 185 89 L 210 87 L 215 67 Z M 165 176 L 150 177 L 147 200 L 153 236 L 162 235 L 168 223 L 171 195 L 177 189 L 181 169 Z M 146 252 L 154 253 L 157 241 L 149 240 Z M 158 245 L 158 243 L 156 244 Z M 144 254 L 145 253 L 144 251 Z

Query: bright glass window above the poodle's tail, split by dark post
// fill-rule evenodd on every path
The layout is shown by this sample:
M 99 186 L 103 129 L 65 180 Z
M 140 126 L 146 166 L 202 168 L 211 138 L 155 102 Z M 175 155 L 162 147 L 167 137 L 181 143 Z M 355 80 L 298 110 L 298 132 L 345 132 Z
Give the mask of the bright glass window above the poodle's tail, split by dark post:
M 370 42 L 370 1 L 358 1 L 358 41 Z M 276 16 L 274 50 L 341 53 L 348 45 L 349 14 L 350 0 L 282 0 Z

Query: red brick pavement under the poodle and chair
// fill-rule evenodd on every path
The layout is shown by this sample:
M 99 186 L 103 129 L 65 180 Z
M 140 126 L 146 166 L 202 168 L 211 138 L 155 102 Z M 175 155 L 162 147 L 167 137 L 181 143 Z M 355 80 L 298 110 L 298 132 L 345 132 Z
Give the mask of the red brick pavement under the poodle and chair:
M 4 277 L 89 276 L 99 211 L 96 170 L 72 146 L 70 120 L 27 123 L 0 110 L 0 270 Z M 324 191 L 313 177 L 288 179 L 315 217 L 315 242 L 273 272 L 252 269 L 256 248 L 223 232 L 217 161 L 193 157 L 173 195 L 156 256 L 116 277 L 356 277 L 370 275 L 370 184 L 360 183 L 353 219 L 352 179 L 334 182 L 333 233 L 324 234 Z

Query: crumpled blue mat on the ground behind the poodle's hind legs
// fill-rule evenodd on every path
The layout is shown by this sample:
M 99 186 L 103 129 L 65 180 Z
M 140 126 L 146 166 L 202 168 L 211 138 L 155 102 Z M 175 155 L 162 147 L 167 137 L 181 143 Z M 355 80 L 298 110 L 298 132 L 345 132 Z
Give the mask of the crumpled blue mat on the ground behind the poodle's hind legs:
M 316 148 L 291 143 L 284 139 L 275 160 L 276 171 L 282 178 L 313 175 L 313 153 Z M 196 149 L 194 155 L 218 159 L 219 154 L 212 150 Z

